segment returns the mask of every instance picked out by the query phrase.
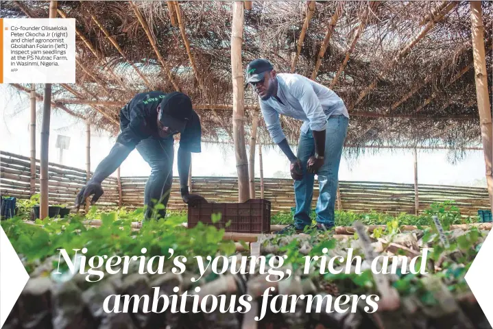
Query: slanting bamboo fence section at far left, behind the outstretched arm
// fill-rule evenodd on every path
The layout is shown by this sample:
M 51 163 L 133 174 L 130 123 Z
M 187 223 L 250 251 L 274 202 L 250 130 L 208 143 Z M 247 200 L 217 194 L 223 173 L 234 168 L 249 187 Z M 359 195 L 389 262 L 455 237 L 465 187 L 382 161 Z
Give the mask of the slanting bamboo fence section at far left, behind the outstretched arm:
M 0 151 L 1 195 L 29 199 L 30 166 L 28 157 Z M 86 171 L 49 162 L 48 176 L 49 204 L 67 204 L 72 207 L 77 193 L 86 184 Z M 40 162 L 36 159 L 36 193 L 40 191 L 39 179 Z M 116 208 L 119 201 L 117 179 L 107 178 L 102 187 L 104 195 L 97 205 L 101 209 Z

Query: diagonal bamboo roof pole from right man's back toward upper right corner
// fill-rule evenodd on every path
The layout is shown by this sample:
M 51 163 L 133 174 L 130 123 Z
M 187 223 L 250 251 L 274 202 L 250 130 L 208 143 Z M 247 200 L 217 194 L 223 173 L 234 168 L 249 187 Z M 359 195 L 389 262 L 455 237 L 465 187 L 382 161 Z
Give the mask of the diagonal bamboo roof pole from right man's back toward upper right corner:
M 394 68 L 394 66 L 396 66 L 396 64 L 398 63 L 398 61 L 403 58 L 404 56 L 406 56 L 409 51 L 411 51 L 411 49 L 413 49 L 413 47 L 415 45 L 418 44 L 418 42 L 420 42 L 420 40 L 422 40 L 424 38 L 424 36 L 426 36 L 426 34 L 428 34 L 428 32 L 433 28 L 435 27 L 436 23 L 442 21 L 442 19 L 444 19 L 444 17 L 446 16 L 446 14 L 448 14 L 448 12 L 450 12 L 450 10 L 453 10 L 453 8 L 455 8 L 455 6 L 459 3 L 459 1 L 451 1 L 447 6 L 446 8 L 444 8 L 444 10 L 440 11 L 440 13 L 433 17 L 433 19 L 426 24 L 426 26 L 421 30 L 421 32 L 415 37 L 413 38 L 413 40 L 411 40 L 411 42 L 409 42 L 409 44 L 406 45 L 406 47 L 404 47 L 404 49 L 402 49 L 398 55 L 392 60 L 392 62 L 385 66 L 385 68 L 378 74 L 378 77 L 375 78 L 372 83 L 365 88 L 365 90 L 363 90 L 360 94 L 359 94 L 359 97 L 358 99 L 351 104 L 351 106 L 349 106 L 348 108 L 348 111 L 351 112 L 352 109 L 357 106 L 357 104 L 359 104 L 360 101 L 363 100 L 363 98 L 365 98 L 371 90 L 373 90 L 373 88 L 376 87 L 376 84 L 378 83 L 378 80 L 381 79 L 381 77 L 385 76 L 385 74 L 387 72 L 389 72 L 390 70 L 392 70 Z

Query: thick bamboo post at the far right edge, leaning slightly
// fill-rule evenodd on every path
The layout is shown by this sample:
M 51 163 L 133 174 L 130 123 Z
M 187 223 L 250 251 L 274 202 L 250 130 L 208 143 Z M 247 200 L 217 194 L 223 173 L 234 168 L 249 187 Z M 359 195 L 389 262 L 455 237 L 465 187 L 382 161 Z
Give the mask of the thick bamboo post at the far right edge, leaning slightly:
M 476 96 L 481 122 L 481 138 L 486 166 L 486 182 L 490 195 L 490 207 L 493 211 L 493 176 L 492 176 L 492 115 L 488 96 L 488 80 L 486 71 L 484 27 L 481 13 L 481 1 L 470 1 L 472 52 L 474 56 L 474 71 L 476 77 Z

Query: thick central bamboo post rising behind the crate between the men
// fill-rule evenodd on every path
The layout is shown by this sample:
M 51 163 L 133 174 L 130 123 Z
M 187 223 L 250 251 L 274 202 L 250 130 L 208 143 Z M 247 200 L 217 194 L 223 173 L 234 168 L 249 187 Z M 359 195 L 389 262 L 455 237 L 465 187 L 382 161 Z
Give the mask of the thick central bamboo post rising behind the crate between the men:
M 248 200 L 248 158 L 245 147 L 245 86 L 241 65 L 243 42 L 243 1 L 232 4 L 231 73 L 233 83 L 233 139 L 238 172 L 238 202 Z

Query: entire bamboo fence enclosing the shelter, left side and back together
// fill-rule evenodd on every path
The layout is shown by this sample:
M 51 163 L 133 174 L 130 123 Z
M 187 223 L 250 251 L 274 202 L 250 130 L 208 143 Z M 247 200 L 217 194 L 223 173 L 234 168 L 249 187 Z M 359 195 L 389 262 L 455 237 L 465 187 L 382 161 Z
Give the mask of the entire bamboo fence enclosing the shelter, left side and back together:
M 36 160 L 36 193 L 39 193 L 39 161 Z M 8 152 L 0 152 L 1 195 L 20 199 L 29 198 L 29 158 Z M 49 163 L 49 202 L 50 204 L 73 205 L 75 196 L 86 182 L 86 171 L 82 169 Z M 122 177 L 121 200 L 117 178 L 107 178 L 103 182 L 104 195 L 98 202 L 101 209 L 116 208 L 121 202 L 129 209 L 143 206 L 145 177 Z M 256 179 L 256 197 L 260 198 L 260 181 Z M 339 182 L 341 209 L 354 212 L 376 210 L 398 214 L 413 214 L 414 185 L 386 182 Z M 490 209 L 488 189 L 460 186 L 435 186 L 418 184 L 420 211 L 433 202 L 453 200 L 461 209 L 462 215 L 476 216 L 479 209 Z M 203 195 L 210 202 L 238 202 L 236 178 L 193 177 L 192 193 Z M 290 211 L 294 206 L 293 181 L 289 179 L 265 178 L 264 197 L 272 202 L 273 212 Z M 315 180 L 313 204 L 318 197 L 318 183 Z M 336 209 L 338 208 L 336 202 Z M 180 197 L 180 183 L 173 179 L 170 209 L 186 209 Z

